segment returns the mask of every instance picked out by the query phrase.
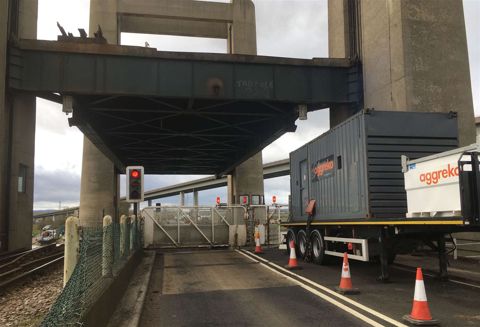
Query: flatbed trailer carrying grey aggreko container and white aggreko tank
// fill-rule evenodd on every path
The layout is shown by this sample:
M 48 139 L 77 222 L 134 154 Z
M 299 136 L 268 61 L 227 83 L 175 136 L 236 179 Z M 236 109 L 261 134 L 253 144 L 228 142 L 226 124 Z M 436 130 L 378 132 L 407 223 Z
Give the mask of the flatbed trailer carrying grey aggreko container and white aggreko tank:
M 457 140 L 455 112 L 364 109 L 293 151 L 291 218 L 281 223 L 288 228 L 288 252 L 293 240 L 300 258 L 310 242 L 317 264 L 345 252 L 375 259 L 379 280 L 388 282 L 387 265 L 396 254 L 427 245 L 447 279 L 445 235 L 480 231 L 480 141 L 458 148 Z M 425 173 L 432 167 L 434 173 Z

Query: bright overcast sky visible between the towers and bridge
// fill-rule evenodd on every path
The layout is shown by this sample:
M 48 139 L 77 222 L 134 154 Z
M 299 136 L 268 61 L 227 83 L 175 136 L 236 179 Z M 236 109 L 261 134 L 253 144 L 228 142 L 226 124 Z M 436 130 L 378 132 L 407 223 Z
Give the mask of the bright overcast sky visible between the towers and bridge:
M 229 1 L 224 1 L 229 2 Z M 267 1 L 255 3 L 257 53 L 264 56 L 306 58 L 328 57 L 327 1 Z M 68 32 L 78 35 L 77 28 L 88 33 L 90 0 L 39 0 L 38 39 L 56 40 L 58 21 Z M 464 0 L 467 27 L 468 56 L 472 81 L 475 114 L 480 115 L 480 1 Z M 226 52 L 227 41 L 183 36 L 157 36 L 122 33 L 123 45 L 144 46 L 158 50 Z M 307 121 L 297 121 L 297 132 L 287 133 L 263 150 L 264 162 L 288 157 L 288 153 L 306 141 L 324 133 L 329 126 L 328 110 L 309 113 Z M 35 138 L 34 210 L 78 206 L 82 171 L 83 134 L 68 126 L 61 105 L 37 98 Z M 160 188 L 203 176 L 147 175 L 145 190 Z M 52 183 L 52 181 L 56 181 Z M 125 176 L 122 176 L 121 195 L 125 195 Z M 272 195 L 277 203 L 287 203 L 289 177 L 265 180 L 266 203 Z M 192 205 L 192 194 L 187 196 Z M 220 196 L 227 198 L 226 187 L 199 192 L 200 204 L 213 204 Z M 179 197 L 159 199 L 163 204 L 178 204 Z

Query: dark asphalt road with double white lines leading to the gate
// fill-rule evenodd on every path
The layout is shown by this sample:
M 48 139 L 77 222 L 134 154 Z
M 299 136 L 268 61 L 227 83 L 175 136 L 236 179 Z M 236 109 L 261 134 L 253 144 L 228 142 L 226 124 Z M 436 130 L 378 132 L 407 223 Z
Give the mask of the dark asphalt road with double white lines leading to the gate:
M 281 269 L 285 250 L 157 254 L 140 326 L 398 326 L 413 303 L 415 272 L 390 269 L 390 284 L 375 281 L 379 267 L 350 260 L 360 294 L 338 286 L 341 258 L 328 266 L 301 263 Z M 427 299 L 441 326 L 479 326 L 480 288 L 424 276 Z

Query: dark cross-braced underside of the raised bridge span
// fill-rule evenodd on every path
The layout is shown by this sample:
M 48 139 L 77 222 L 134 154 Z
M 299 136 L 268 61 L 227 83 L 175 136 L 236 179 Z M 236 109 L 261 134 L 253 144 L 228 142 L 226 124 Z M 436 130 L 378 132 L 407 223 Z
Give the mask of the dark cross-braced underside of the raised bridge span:
M 75 95 L 71 123 L 110 150 L 119 169 L 148 174 L 218 174 L 295 131 L 295 103 Z M 86 122 L 86 124 L 85 124 Z M 253 149 L 253 150 L 252 150 Z M 111 156 L 110 156 L 111 157 Z

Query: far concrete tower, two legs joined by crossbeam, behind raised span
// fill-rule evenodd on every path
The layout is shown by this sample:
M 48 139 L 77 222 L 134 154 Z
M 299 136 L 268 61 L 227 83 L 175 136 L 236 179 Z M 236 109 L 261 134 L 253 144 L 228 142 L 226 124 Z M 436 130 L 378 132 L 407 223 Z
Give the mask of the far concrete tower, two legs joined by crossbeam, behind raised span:
M 98 25 L 109 44 L 121 44 L 121 32 L 199 36 L 226 39 L 228 53 L 257 53 L 255 8 L 251 0 L 230 3 L 92 0 L 90 36 Z M 113 163 L 84 137 L 81 221 L 98 221 L 104 214 L 118 219 L 120 173 L 123 172 L 116 171 Z M 262 153 L 238 166 L 228 177 L 228 203 L 239 203 L 244 194 L 249 195 L 249 203 L 252 203 L 252 195 L 259 195 L 259 199 L 264 195 Z

